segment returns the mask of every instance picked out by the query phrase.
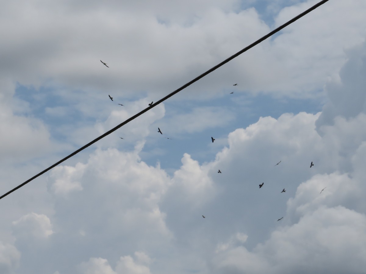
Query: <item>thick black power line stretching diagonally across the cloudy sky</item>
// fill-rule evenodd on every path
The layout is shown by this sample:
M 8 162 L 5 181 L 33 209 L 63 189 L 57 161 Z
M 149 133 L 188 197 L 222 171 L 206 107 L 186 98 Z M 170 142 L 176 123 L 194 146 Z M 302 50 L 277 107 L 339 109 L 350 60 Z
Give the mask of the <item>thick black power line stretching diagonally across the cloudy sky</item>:
M 114 128 L 112 128 L 111 130 L 108 130 L 106 133 L 102 134 L 101 136 L 99 136 L 98 138 L 94 139 L 93 141 L 87 143 L 86 145 L 82 146 L 81 148 L 79 148 L 78 150 L 72 152 L 70 155 L 66 156 L 65 158 L 61 159 L 60 161 L 58 161 L 57 163 L 51 165 L 50 167 L 46 168 L 45 170 L 41 171 L 40 173 L 38 173 L 37 175 L 33 176 L 32 178 L 26 180 L 24 183 L 19 184 L 19 186 L 15 187 L 14 189 L 8 191 L 7 193 L 5 193 L 4 195 L 2 195 L 0 197 L 0 199 L 4 198 L 5 196 L 9 195 L 10 193 L 12 193 L 13 191 L 19 189 L 20 187 L 24 186 L 25 184 L 29 183 L 31 180 L 36 179 L 38 176 L 41 176 L 42 174 L 44 174 L 45 172 L 51 170 L 52 168 L 56 167 L 56 165 L 61 164 L 63 161 L 66 161 L 67 159 L 71 158 L 72 156 L 74 156 L 75 154 L 81 152 L 83 149 L 87 148 L 88 146 L 94 144 L 95 142 L 99 141 L 100 139 L 104 138 L 105 136 L 111 134 L 112 132 L 116 131 L 117 129 L 119 129 L 120 127 L 122 127 L 123 125 L 126 125 L 128 122 L 131 122 L 133 119 L 139 117 L 141 114 L 145 113 L 146 111 L 152 109 L 153 107 L 157 106 L 158 104 L 160 104 L 161 102 L 164 102 L 165 100 L 167 100 L 168 98 L 170 98 L 171 96 L 173 96 L 174 94 L 178 93 L 179 91 L 183 90 L 184 88 L 188 87 L 189 85 L 193 84 L 194 82 L 198 81 L 199 79 L 201 79 L 202 77 L 208 75 L 209 73 L 213 72 L 214 70 L 220 68 L 220 66 L 226 64 L 227 62 L 231 61 L 232 59 L 234 59 L 235 57 L 238 57 L 240 54 L 246 52 L 247 50 L 251 49 L 252 47 L 254 47 L 255 45 L 258 45 L 260 42 L 264 41 L 265 39 L 269 38 L 270 36 L 272 36 L 273 34 L 277 33 L 278 31 L 282 30 L 284 27 L 287 27 L 289 24 L 294 23 L 296 20 L 300 19 L 302 16 L 308 14 L 310 11 L 313 11 L 314 9 L 316 9 L 317 7 L 321 6 L 322 4 L 324 4 L 325 2 L 327 2 L 329 0 L 323 0 L 320 1 L 319 3 L 313 5 L 313 7 L 307 9 L 306 11 L 304 11 L 303 13 L 299 14 L 298 16 L 292 18 L 290 21 L 284 23 L 283 25 L 279 26 L 278 28 L 276 28 L 275 30 L 271 31 L 270 33 L 268 33 L 267 35 L 263 36 L 262 38 L 258 39 L 257 41 L 255 41 L 254 43 L 250 44 L 249 46 L 245 47 L 244 49 L 240 50 L 239 52 L 235 53 L 234 55 L 230 56 L 229 58 L 227 58 L 226 60 L 222 61 L 220 64 L 214 66 L 213 68 L 209 69 L 208 71 L 202 73 L 201 75 L 197 76 L 195 79 L 191 80 L 190 82 L 188 82 L 185 85 L 182 85 L 182 87 L 178 88 L 177 90 L 171 92 L 170 94 L 168 94 L 167 96 L 165 96 L 164 98 L 158 100 L 157 102 L 155 102 L 154 104 L 152 104 L 151 106 L 147 107 L 146 109 L 140 111 L 139 113 L 135 114 L 134 116 L 128 118 L 126 121 L 120 123 L 119 125 L 115 126 Z

